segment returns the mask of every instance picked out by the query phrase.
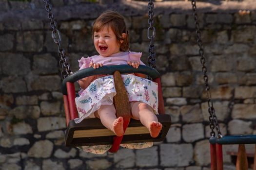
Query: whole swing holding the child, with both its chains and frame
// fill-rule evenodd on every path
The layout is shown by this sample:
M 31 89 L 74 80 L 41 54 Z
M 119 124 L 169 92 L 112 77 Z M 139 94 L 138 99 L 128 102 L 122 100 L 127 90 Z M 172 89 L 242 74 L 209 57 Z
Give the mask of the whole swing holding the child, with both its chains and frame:
M 45 3 L 45 9 L 48 12 L 48 19 L 50 20 L 50 26 L 53 29 L 52 38 L 58 45 L 58 55 L 60 57 L 59 64 L 62 68 L 61 75 L 63 78 L 61 90 L 63 93 L 64 109 L 66 115 L 67 130 L 65 132 L 65 146 L 77 147 L 77 146 L 90 146 L 90 145 L 105 145 L 112 144 L 109 152 L 117 152 L 120 143 L 139 143 L 139 142 L 157 142 L 164 140 L 167 132 L 171 126 L 170 115 L 165 115 L 163 97 L 161 91 L 160 74 L 155 69 L 156 59 L 154 51 L 154 37 L 155 27 L 153 27 L 153 8 L 154 3 L 149 0 L 148 3 L 148 15 L 149 25 L 148 38 L 150 39 L 149 45 L 149 57 L 148 66 L 139 66 L 133 68 L 129 65 L 118 66 L 103 66 L 97 69 L 85 68 L 72 73 L 70 65 L 67 61 L 65 51 L 61 47 L 61 36 L 57 27 L 57 22 L 54 20 L 54 16 L 51 12 L 52 6 L 49 0 L 43 0 Z M 150 35 L 152 31 L 152 35 Z M 127 92 L 124 88 L 120 74 L 124 73 L 142 73 L 148 75 L 154 82 L 158 83 L 158 122 L 162 124 L 162 130 L 156 138 L 150 136 L 149 131 L 140 123 L 139 120 L 131 119 L 131 111 L 129 106 L 129 100 Z M 116 108 L 117 117 L 123 117 L 123 136 L 115 136 L 113 132 L 106 129 L 100 119 L 91 118 L 83 119 L 80 123 L 75 123 L 74 119 L 78 118 L 78 111 L 75 104 L 75 86 L 74 83 L 78 80 L 98 74 L 113 74 L 114 82 L 117 91 L 117 95 L 114 97 L 114 105 Z

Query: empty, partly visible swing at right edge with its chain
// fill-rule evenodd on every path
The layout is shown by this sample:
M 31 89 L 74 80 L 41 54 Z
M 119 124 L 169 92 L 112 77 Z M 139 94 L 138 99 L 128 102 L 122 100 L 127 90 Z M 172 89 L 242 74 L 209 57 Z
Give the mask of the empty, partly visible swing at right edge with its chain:
M 211 152 L 211 170 L 223 170 L 223 155 L 222 155 L 222 145 L 239 144 L 237 159 L 236 159 L 236 170 L 248 170 L 248 161 L 245 153 L 244 144 L 256 144 L 256 135 L 239 135 L 239 136 L 222 136 L 220 128 L 218 125 L 217 116 L 215 114 L 215 109 L 213 106 L 213 101 L 211 99 L 210 87 L 208 84 L 207 68 L 205 66 L 204 50 L 202 48 L 202 41 L 199 30 L 199 23 L 197 18 L 197 6 L 196 0 L 191 0 L 192 8 L 194 12 L 196 33 L 197 33 L 197 45 L 199 47 L 200 62 L 202 64 L 203 80 L 205 85 L 205 91 L 208 97 L 208 112 L 210 114 L 210 128 L 211 137 L 210 141 L 210 152 Z M 215 131 L 217 131 L 217 136 L 215 136 Z M 256 170 L 256 146 L 254 153 L 254 167 Z

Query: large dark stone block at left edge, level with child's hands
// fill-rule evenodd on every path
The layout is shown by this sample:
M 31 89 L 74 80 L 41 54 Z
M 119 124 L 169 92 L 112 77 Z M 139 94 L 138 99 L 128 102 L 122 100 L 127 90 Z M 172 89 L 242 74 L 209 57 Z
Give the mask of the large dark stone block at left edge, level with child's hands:
M 30 71 L 30 60 L 22 54 L 0 53 L 0 60 L 3 74 L 26 75 Z

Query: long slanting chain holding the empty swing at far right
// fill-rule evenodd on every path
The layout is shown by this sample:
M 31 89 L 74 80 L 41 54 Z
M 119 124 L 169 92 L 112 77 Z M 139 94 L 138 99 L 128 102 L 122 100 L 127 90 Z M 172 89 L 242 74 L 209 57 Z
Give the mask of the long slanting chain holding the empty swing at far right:
M 216 128 L 218 137 L 222 137 L 220 128 L 218 125 L 218 120 L 215 114 L 213 101 L 211 98 L 210 86 L 208 84 L 207 68 L 205 66 L 204 50 L 202 47 L 201 33 L 200 33 L 198 17 L 197 17 L 196 0 L 191 0 L 191 3 L 192 3 L 193 12 L 194 12 L 194 19 L 195 19 L 195 26 L 196 26 L 196 33 L 197 33 L 197 45 L 199 46 L 199 55 L 200 55 L 200 62 L 202 64 L 203 80 L 205 85 L 205 91 L 207 93 L 207 98 L 208 98 L 207 102 L 208 102 L 208 112 L 210 114 L 209 121 L 210 121 L 210 129 L 211 129 L 210 135 L 211 137 L 215 136 L 214 128 Z

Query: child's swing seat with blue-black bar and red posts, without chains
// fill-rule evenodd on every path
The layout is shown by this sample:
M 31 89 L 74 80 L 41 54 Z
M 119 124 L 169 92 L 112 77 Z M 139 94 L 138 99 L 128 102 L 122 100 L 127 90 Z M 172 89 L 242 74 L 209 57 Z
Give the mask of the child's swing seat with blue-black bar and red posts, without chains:
M 126 115 L 122 115 L 122 111 L 127 111 L 127 108 L 123 105 L 129 105 L 128 100 L 124 100 L 125 95 L 120 94 L 118 96 L 118 90 L 124 90 L 123 87 L 118 89 L 117 87 L 117 97 L 115 102 L 114 97 L 114 104 L 118 114 L 124 117 L 124 130 L 126 129 L 123 136 L 115 136 L 115 134 L 105 128 L 100 119 L 92 118 L 92 119 L 83 119 L 80 123 L 75 123 L 74 119 L 78 118 L 77 108 L 75 104 L 75 86 L 74 82 L 78 80 L 88 77 L 91 75 L 97 74 L 114 74 L 115 71 L 119 71 L 121 74 L 124 73 L 142 73 L 150 76 L 154 82 L 158 83 L 158 113 L 157 115 L 158 121 L 162 123 L 163 127 L 161 132 L 156 138 L 150 136 L 149 131 L 140 123 L 139 120 L 125 118 Z M 114 74 L 115 77 L 115 74 Z M 156 142 L 164 140 L 170 126 L 171 126 L 171 118 L 170 115 L 164 115 L 164 105 L 163 105 L 163 98 L 162 98 L 162 91 L 160 85 L 160 74 L 154 68 L 150 68 L 148 66 L 139 66 L 139 68 L 133 68 L 129 65 L 118 65 L 118 66 L 103 66 L 97 69 L 94 68 L 85 68 L 79 71 L 76 71 L 72 75 L 68 76 L 66 79 L 63 80 L 62 83 L 62 93 L 64 99 L 64 108 L 66 114 L 66 123 L 67 123 L 67 130 L 65 132 L 65 145 L 67 147 L 74 147 L 74 146 L 90 146 L 90 145 L 105 145 L 105 144 L 113 144 L 114 149 L 111 149 L 110 152 L 117 152 L 120 143 L 139 143 L 139 142 Z M 115 79 L 115 78 L 114 78 Z M 117 83 L 115 82 L 115 85 Z M 121 82 L 123 85 L 123 83 Z M 123 99 L 122 99 L 123 98 Z M 129 106 L 128 106 L 129 107 Z M 123 110 L 122 110 L 123 109 Z M 128 108 L 129 109 L 129 108 Z M 126 111 L 125 111 L 126 110 Z M 128 125 L 130 121 L 130 124 Z M 126 123 L 125 123 L 126 122 Z M 112 147 L 112 148 L 113 148 Z

